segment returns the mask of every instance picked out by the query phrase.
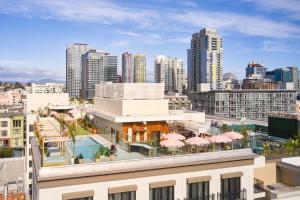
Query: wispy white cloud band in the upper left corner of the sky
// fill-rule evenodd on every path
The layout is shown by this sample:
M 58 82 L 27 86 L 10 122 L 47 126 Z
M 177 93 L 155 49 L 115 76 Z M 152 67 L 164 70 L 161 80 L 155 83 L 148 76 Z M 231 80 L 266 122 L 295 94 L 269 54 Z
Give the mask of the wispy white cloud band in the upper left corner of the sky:
M 139 9 L 136 12 L 133 8 L 107 0 L 2 0 L 0 11 L 12 15 L 104 24 L 124 21 L 144 23 L 154 16 L 152 10 Z

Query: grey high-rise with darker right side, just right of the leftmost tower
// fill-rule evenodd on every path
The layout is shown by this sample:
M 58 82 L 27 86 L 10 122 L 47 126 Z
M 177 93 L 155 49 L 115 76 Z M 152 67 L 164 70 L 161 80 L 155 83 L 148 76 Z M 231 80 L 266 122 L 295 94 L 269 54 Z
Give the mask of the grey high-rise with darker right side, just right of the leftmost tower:
M 109 53 L 89 50 L 82 56 L 81 98 L 92 99 L 95 96 L 95 84 L 117 82 L 118 57 Z

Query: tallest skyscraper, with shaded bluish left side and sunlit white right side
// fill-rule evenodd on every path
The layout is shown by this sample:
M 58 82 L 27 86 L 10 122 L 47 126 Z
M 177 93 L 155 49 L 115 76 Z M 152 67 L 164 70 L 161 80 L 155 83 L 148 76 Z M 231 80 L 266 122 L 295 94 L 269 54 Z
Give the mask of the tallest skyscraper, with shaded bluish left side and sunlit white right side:
M 222 38 L 214 29 L 204 28 L 194 33 L 188 49 L 189 90 L 195 91 L 198 83 L 209 83 L 211 90 L 222 89 L 223 48 Z

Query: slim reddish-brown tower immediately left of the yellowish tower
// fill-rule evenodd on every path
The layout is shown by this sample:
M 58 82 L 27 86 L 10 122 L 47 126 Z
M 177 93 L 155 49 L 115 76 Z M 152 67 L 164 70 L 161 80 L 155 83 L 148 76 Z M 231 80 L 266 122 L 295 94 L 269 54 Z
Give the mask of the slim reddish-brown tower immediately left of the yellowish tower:
M 131 53 L 122 54 L 122 82 L 123 83 L 133 83 L 133 57 Z

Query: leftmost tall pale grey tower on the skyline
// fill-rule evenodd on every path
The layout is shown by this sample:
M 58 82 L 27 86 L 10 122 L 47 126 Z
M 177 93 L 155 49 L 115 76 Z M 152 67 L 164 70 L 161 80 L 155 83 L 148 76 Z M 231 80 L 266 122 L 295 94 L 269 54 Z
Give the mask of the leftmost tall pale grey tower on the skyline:
M 87 44 L 75 43 L 66 50 L 66 91 L 70 97 L 79 97 L 81 89 L 81 57 L 89 50 Z

